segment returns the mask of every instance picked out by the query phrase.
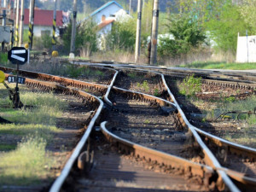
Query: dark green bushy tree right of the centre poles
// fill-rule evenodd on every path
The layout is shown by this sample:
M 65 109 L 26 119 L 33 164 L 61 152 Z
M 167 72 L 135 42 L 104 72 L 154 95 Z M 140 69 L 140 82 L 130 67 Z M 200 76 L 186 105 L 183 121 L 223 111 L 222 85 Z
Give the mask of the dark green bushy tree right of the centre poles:
M 195 20 L 191 20 L 188 15 L 170 15 L 168 19 L 168 32 L 172 38 L 160 38 L 158 48 L 160 55 L 172 55 L 173 57 L 187 54 L 191 48 L 198 47 L 206 39 L 201 26 Z

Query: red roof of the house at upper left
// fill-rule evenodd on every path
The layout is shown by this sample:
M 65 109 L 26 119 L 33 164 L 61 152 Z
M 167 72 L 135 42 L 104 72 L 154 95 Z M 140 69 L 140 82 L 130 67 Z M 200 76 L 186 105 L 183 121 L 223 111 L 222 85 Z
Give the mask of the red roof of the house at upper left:
M 52 26 L 53 24 L 53 10 L 35 9 L 34 11 L 34 25 L 35 26 Z M 24 25 L 29 24 L 29 9 L 24 9 Z M 56 26 L 63 26 L 62 11 L 56 11 Z

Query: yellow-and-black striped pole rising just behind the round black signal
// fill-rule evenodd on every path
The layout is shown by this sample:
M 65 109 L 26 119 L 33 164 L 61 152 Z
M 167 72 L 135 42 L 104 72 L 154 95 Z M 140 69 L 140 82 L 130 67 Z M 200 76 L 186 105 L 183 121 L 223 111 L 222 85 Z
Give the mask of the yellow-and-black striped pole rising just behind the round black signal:
M 28 44 L 29 44 L 29 49 L 32 49 L 32 45 L 33 45 L 34 9 L 35 9 L 35 0 L 30 0 L 30 5 L 29 5 L 29 26 L 28 26 Z

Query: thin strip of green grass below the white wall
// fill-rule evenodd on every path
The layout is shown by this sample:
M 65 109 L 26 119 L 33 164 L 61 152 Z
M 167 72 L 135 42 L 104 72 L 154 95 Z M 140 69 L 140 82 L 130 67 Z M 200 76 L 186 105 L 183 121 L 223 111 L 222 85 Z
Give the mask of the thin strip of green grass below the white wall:
M 201 69 L 230 69 L 249 70 L 256 69 L 256 63 L 227 63 L 227 62 L 192 62 L 178 67 L 201 68 Z

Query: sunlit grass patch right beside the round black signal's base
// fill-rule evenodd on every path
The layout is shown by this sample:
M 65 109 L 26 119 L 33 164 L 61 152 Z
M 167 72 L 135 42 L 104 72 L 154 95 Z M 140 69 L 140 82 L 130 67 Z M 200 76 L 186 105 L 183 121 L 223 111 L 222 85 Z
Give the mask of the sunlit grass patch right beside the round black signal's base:
M 56 118 L 61 116 L 61 110 L 67 107 L 67 102 L 56 98 L 53 93 L 33 93 L 20 91 L 20 101 L 32 108 L 2 108 L 0 115 L 11 122 L 24 124 L 55 125 Z M 0 99 L 0 103 L 10 103 L 8 98 Z

